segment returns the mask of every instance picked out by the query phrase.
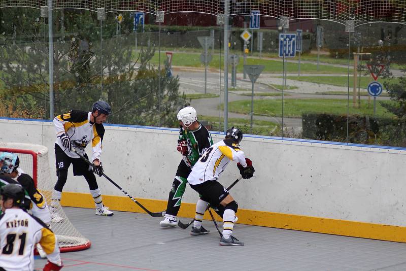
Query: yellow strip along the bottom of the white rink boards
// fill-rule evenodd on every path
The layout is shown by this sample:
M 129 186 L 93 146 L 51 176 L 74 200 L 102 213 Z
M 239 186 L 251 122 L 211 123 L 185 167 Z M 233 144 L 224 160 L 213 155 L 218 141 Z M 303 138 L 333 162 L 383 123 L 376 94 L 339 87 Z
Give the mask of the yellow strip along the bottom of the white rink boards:
M 160 212 L 166 209 L 166 200 L 147 198 L 137 198 L 137 200 L 151 212 Z M 124 196 L 103 195 L 103 203 L 110 210 L 145 213 L 130 198 Z M 68 207 L 94 208 L 91 195 L 86 193 L 62 192 L 61 204 Z M 195 204 L 182 203 L 178 216 L 193 218 L 195 207 Z M 239 209 L 237 215 L 239 217 L 238 222 L 241 224 L 406 243 L 406 227 L 401 226 L 248 209 Z M 208 213 L 205 214 L 204 219 L 211 219 Z M 218 217 L 216 219 L 219 220 Z

